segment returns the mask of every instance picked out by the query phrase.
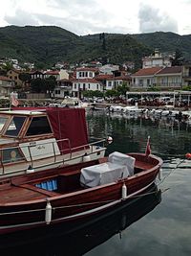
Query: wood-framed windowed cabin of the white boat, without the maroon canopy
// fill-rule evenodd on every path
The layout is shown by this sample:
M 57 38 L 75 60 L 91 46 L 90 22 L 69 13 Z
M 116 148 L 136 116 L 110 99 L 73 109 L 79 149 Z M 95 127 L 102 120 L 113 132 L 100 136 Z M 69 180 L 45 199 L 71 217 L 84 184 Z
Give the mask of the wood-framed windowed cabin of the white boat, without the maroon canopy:
M 53 141 L 54 137 L 53 128 L 45 112 L 22 110 L 0 112 L 0 134 L 0 155 L 3 164 L 28 158 L 30 151 L 27 153 L 27 147 L 36 146 L 37 138 L 38 141 Z

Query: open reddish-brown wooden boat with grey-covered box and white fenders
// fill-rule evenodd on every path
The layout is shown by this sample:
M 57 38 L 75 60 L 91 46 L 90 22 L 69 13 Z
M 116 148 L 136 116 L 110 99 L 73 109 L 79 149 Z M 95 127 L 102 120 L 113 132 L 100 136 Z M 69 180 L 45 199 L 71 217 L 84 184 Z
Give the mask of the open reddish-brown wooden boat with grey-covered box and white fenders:
M 0 234 L 86 220 L 146 190 L 162 160 L 145 153 L 109 157 L 0 179 Z

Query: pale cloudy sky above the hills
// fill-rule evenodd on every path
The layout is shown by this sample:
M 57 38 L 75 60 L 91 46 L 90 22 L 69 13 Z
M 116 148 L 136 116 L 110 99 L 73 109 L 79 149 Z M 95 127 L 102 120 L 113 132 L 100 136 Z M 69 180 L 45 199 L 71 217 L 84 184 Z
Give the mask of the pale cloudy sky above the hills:
M 6 0 L 0 27 L 55 25 L 76 35 L 191 34 L 191 0 Z

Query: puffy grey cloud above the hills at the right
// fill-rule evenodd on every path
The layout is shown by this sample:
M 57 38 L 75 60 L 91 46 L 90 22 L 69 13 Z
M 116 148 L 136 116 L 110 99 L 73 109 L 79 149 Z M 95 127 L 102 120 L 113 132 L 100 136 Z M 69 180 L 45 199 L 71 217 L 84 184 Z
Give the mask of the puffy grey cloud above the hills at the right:
M 140 5 L 138 12 L 139 32 L 150 33 L 156 31 L 178 33 L 177 21 L 164 12 L 147 5 Z

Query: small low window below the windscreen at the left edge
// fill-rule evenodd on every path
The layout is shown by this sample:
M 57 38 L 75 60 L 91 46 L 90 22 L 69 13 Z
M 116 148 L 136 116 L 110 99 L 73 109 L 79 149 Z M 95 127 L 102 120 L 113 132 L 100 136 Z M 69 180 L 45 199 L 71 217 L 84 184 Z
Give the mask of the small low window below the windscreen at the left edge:
M 8 164 L 11 162 L 18 162 L 24 160 L 23 155 L 16 148 L 2 150 L 2 162 Z

